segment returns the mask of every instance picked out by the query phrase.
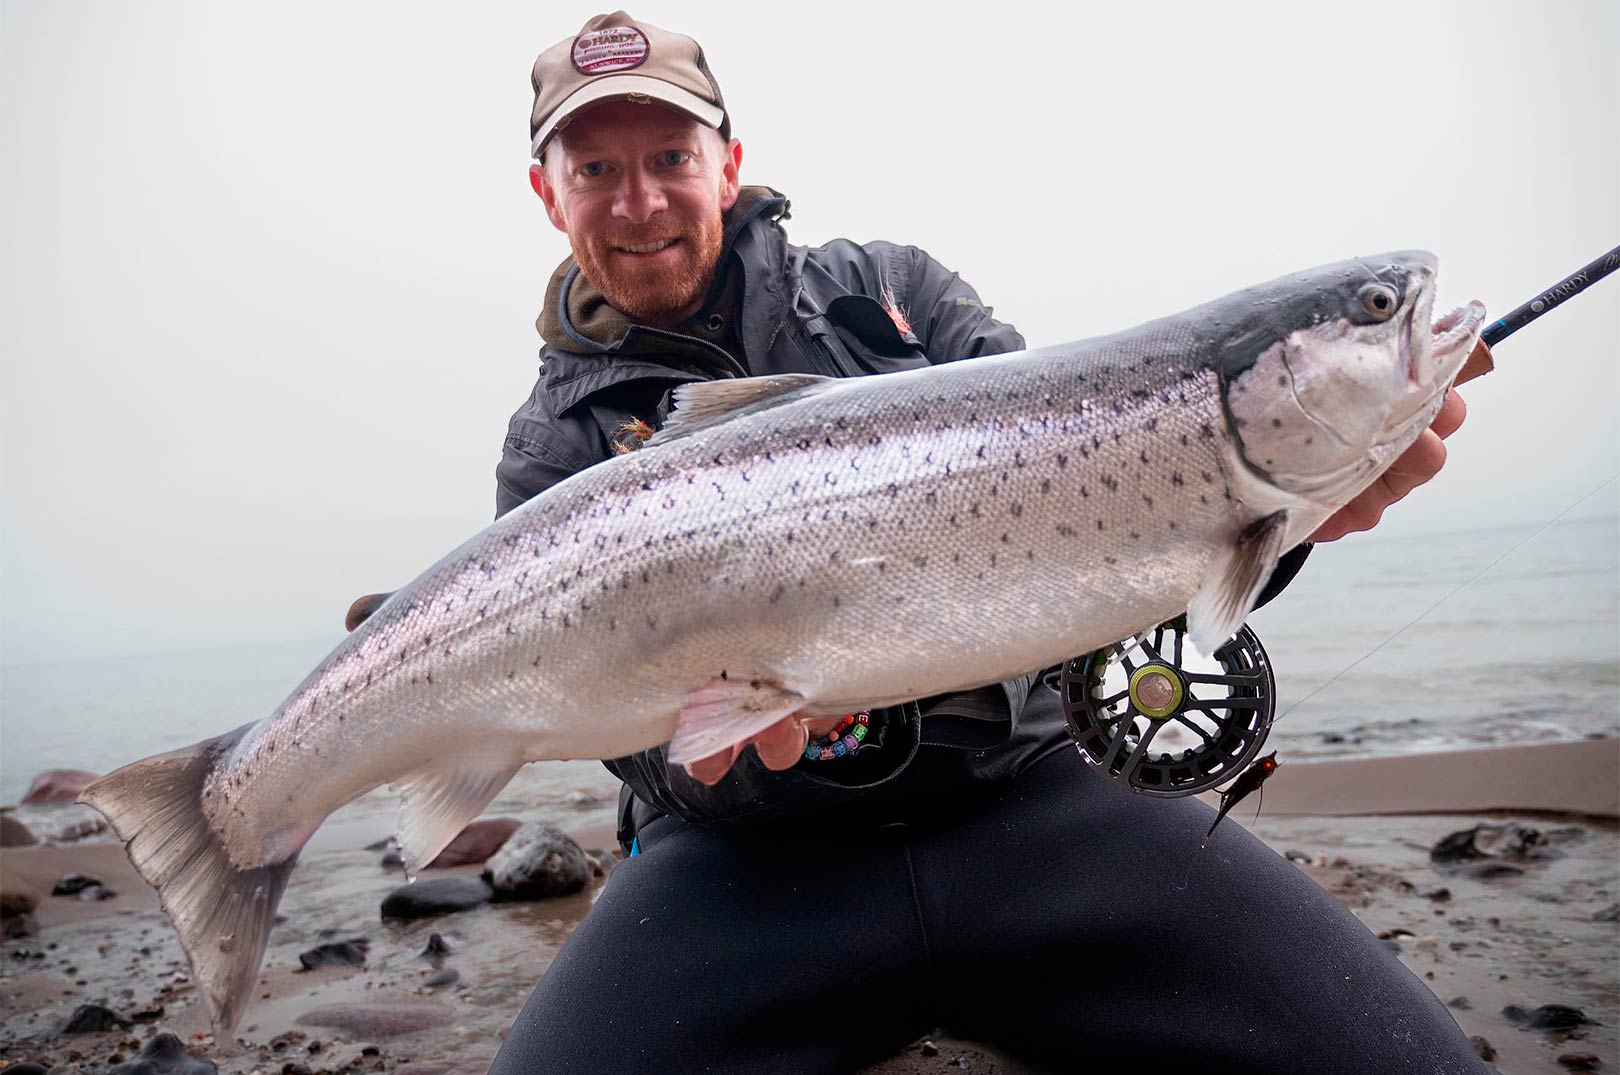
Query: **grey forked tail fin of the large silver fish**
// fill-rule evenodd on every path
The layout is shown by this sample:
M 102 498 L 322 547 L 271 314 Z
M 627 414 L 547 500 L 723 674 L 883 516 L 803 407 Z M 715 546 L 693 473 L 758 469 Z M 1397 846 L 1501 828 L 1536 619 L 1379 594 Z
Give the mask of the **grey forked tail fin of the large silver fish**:
M 209 772 L 248 727 L 128 764 L 79 797 L 107 816 L 130 861 L 157 889 L 217 1041 L 228 1041 L 241 1018 L 298 860 L 295 850 L 279 863 L 233 865 L 202 811 Z

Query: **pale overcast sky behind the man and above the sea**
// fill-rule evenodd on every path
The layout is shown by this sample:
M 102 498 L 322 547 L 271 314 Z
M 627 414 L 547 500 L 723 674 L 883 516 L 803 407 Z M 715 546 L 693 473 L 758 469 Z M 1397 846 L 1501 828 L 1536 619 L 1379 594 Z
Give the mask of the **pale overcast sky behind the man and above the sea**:
M 593 10 L 0 3 L 0 664 L 335 638 L 489 521 L 567 253 L 528 70 Z M 1409 246 L 1505 312 L 1620 243 L 1614 0 L 954 10 L 633 13 L 794 241 L 923 246 L 1032 345 Z M 1617 337 L 1609 280 L 1503 345 L 1380 533 L 1615 474 Z

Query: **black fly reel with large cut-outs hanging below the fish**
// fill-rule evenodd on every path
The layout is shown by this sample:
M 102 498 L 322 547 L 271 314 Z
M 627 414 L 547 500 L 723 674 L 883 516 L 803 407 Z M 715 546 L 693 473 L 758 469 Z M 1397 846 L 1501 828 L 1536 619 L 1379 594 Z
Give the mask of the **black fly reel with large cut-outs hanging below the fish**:
M 1277 716 L 1272 662 L 1252 630 L 1210 659 L 1187 649 L 1186 636 L 1179 615 L 1074 657 L 1058 680 L 1081 758 L 1144 795 L 1197 795 L 1231 780 L 1259 756 Z

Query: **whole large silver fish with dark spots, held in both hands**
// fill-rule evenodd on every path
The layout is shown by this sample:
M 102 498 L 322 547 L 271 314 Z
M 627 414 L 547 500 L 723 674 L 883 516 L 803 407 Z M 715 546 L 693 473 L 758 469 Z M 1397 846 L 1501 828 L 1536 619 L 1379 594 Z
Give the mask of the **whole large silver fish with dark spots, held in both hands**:
M 1427 427 L 1484 309 L 1398 253 L 1118 335 L 881 377 L 685 385 L 395 593 L 258 724 L 84 793 L 235 1028 L 298 850 L 403 790 L 415 869 L 530 761 L 671 763 L 1047 667 L 1189 610 L 1210 651 L 1278 555 Z

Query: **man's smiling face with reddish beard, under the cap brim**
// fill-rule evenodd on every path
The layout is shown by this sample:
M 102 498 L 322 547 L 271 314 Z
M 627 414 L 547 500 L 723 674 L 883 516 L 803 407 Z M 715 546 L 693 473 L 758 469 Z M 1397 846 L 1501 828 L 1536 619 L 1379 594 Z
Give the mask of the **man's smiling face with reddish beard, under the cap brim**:
M 698 311 L 737 201 L 742 146 L 672 108 L 616 100 L 585 112 L 530 170 L 580 272 L 637 321 Z

